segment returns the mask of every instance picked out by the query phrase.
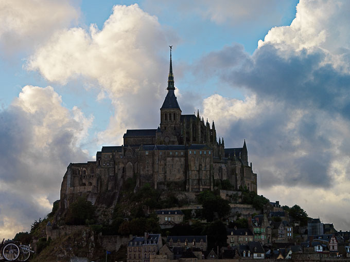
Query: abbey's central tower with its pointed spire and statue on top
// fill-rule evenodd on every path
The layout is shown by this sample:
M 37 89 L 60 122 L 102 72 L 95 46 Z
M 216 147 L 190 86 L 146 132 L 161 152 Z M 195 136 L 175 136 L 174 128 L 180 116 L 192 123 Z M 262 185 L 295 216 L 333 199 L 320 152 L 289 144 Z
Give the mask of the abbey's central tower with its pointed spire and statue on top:
M 170 67 L 168 76 L 168 93 L 165 97 L 161 107 L 161 124 L 160 129 L 162 133 L 171 133 L 177 135 L 181 133 L 181 109 L 178 100 L 175 96 L 174 75 L 172 73 L 171 61 L 171 47 L 170 46 Z M 167 142 L 167 141 L 165 141 Z

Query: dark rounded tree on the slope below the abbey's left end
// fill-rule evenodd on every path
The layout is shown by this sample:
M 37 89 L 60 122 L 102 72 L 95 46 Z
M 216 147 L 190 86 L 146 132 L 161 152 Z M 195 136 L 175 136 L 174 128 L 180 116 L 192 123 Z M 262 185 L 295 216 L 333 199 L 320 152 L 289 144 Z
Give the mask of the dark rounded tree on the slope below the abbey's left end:
M 92 220 L 95 214 L 95 207 L 84 197 L 79 197 L 69 205 L 65 218 L 66 224 L 85 224 L 86 220 Z

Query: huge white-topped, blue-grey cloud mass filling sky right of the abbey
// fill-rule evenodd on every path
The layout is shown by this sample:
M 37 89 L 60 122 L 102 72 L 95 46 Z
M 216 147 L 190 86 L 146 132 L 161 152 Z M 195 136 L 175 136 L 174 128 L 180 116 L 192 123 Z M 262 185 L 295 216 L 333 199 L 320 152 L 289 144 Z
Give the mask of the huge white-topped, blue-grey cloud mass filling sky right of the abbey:
M 341 229 L 350 209 L 349 6 L 300 1 L 291 25 L 272 28 L 253 55 L 226 46 L 204 55 L 194 71 L 246 93 L 244 100 L 209 96 L 203 108 L 217 119 L 225 146 L 247 139 L 259 192 Z

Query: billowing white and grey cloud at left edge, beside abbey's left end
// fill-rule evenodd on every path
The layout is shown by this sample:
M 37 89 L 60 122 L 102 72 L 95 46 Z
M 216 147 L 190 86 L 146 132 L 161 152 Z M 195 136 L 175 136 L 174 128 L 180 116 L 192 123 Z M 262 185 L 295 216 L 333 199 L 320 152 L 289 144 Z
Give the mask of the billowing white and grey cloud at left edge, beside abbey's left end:
M 0 230 L 13 237 L 47 214 L 59 198 L 67 163 L 86 161 L 80 148 L 93 118 L 69 110 L 47 86 L 25 86 L 0 111 Z M 24 226 L 25 225 L 25 226 Z

